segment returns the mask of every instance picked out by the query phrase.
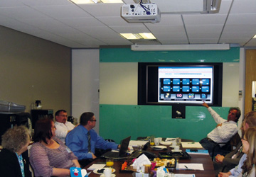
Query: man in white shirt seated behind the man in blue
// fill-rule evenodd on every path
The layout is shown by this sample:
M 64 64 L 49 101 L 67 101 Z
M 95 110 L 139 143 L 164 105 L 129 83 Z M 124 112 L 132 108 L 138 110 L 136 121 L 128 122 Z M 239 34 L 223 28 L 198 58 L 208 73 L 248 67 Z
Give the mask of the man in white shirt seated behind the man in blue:
M 65 137 L 70 132 L 70 130 L 73 130 L 75 125 L 73 125 L 71 122 L 68 122 L 68 113 L 66 110 L 58 110 L 55 113 L 55 136 L 58 137 L 62 142 L 65 143 Z

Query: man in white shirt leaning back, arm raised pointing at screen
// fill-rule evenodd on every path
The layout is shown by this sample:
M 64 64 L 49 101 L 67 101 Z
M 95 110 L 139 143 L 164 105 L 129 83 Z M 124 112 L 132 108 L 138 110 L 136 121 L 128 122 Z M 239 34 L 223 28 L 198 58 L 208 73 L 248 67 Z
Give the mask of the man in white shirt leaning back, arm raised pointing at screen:
M 209 154 L 212 155 L 213 147 L 215 147 L 217 143 L 228 142 L 230 138 L 238 132 L 237 122 L 240 118 L 241 111 L 240 108 L 230 108 L 228 111 L 228 120 L 225 120 L 220 118 L 220 115 L 210 108 L 207 103 L 203 102 L 202 105 L 208 109 L 210 115 L 217 123 L 215 129 L 208 133 L 206 138 L 203 138 L 200 141 L 202 147 L 208 150 Z M 220 145 L 217 145 L 215 148 L 215 153 L 222 154 Z

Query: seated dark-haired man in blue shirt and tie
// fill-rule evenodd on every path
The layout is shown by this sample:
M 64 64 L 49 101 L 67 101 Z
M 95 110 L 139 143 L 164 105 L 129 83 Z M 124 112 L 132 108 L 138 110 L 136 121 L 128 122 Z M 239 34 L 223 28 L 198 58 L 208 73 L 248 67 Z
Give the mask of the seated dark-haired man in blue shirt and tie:
M 94 113 L 82 113 L 80 117 L 80 125 L 68 132 L 65 138 L 66 145 L 78 156 L 78 161 L 81 166 L 90 164 L 95 156 L 95 148 L 98 149 L 119 149 L 120 145 L 114 142 L 109 142 L 93 130 L 96 125 Z

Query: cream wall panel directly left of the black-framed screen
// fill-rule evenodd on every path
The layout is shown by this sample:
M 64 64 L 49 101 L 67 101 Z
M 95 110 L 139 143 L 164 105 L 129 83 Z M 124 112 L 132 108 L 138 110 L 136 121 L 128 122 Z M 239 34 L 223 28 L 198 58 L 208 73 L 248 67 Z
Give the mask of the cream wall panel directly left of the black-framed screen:
M 137 105 L 138 63 L 100 63 L 100 104 Z

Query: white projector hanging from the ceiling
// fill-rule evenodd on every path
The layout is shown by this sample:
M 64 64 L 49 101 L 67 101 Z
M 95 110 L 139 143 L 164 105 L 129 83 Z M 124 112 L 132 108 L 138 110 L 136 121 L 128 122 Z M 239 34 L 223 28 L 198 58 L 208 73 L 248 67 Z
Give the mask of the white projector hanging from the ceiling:
M 129 23 L 156 23 L 161 20 L 161 14 L 156 4 L 124 4 L 121 16 Z

